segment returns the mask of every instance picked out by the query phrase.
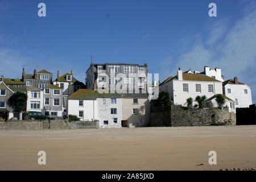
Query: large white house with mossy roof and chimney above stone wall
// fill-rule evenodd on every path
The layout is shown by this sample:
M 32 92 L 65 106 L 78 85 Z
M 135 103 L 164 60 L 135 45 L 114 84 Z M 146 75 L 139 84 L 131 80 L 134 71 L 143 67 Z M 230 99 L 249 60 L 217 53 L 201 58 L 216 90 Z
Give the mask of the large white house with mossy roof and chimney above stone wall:
M 197 104 L 196 96 L 210 98 L 222 94 L 222 82 L 201 73 L 183 73 L 179 68 L 176 76 L 168 77 L 159 84 L 159 92 L 162 91 L 170 93 L 175 105 L 187 106 L 187 98 L 192 97 L 194 106 Z

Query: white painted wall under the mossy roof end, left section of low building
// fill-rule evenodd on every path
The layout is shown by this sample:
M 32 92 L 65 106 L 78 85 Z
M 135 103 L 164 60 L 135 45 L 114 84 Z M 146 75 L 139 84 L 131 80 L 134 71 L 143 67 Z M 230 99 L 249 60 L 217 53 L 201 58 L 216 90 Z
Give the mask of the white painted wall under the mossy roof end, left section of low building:
M 96 109 L 96 100 L 84 100 L 84 106 L 79 106 L 79 100 L 68 100 L 68 115 L 77 115 L 79 117 L 79 111 L 84 111 L 84 117 L 80 118 L 81 121 L 92 121 L 96 119 L 95 109 Z

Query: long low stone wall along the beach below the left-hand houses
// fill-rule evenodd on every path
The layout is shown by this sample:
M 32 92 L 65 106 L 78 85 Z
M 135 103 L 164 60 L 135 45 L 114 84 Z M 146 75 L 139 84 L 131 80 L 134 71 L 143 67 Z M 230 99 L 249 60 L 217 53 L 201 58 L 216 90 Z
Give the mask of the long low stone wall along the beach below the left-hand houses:
M 63 130 L 98 128 L 98 121 L 50 120 L 47 121 L 1 121 L 0 130 Z

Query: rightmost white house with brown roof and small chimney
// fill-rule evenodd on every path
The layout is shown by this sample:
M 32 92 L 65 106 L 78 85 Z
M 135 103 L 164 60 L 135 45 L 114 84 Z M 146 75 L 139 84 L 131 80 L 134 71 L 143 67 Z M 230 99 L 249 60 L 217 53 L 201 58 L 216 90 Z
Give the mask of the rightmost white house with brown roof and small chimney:
M 238 82 L 238 78 L 226 80 L 222 83 L 223 93 L 236 102 L 236 107 L 249 107 L 253 104 L 251 97 L 251 88 Z

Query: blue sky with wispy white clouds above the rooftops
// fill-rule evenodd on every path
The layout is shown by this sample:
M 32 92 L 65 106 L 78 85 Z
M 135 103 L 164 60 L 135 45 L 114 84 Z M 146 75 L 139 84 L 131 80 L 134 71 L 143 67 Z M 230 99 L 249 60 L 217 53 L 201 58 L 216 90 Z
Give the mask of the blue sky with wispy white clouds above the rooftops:
M 38 4 L 46 3 L 46 17 Z M 217 17 L 208 5 L 217 5 Z M 73 69 L 84 81 L 93 63 L 137 63 L 151 73 L 176 75 L 178 67 L 219 67 L 226 78 L 251 86 L 256 102 L 256 2 L 15 1 L 0 0 L 0 73 L 20 78 L 34 68 L 56 77 Z

